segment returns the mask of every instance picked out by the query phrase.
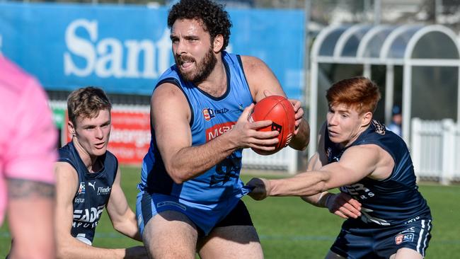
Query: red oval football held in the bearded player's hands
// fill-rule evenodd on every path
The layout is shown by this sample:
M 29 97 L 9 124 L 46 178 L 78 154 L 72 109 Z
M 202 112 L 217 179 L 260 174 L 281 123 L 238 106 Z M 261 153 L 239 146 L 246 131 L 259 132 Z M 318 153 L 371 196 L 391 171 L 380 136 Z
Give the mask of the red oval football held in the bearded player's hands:
M 258 131 L 270 132 L 277 130 L 280 132 L 278 139 L 280 140 L 275 150 L 265 151 L 253 149 L 255 153 L 260 155 L 271 155 L 280 151 L 284 146 L 287 146 L 292 139 L 295 129 L 295 112 L 291 102 L 283 96 L 268 96 L 255 103 L 253 113 L 249 116 L 250 122 L 259 120 L 271 120 L 272 125 L 258 129 Z

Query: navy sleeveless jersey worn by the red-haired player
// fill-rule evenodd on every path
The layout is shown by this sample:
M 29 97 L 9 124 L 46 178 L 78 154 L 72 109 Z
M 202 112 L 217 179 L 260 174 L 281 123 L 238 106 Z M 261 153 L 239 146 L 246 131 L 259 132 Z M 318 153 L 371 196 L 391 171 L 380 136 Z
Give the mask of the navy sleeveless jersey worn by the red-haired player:
M 340 149 L 330 141 L 326 129 L 325 151 L 328 163 L 339 161 L 350 146 L 376 144 L 387 151 L 394 160 L 389 178 L 374 180 L 364 178 L 340 188 L 362 204 L 362 221 L 381 226 L 403 224 L 416 219 L 431 219 L 430 208 L 418 192 L 412 159 L 406 143 L 376 120 L 350 146 Z M 349 219 L 350 220 L 350 219 Z

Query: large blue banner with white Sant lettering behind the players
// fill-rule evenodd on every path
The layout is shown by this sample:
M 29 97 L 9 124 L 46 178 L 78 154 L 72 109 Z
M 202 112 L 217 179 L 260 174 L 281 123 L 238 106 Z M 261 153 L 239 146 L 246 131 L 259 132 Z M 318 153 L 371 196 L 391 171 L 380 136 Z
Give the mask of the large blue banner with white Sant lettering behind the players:
M 228 9 L 229 52 L 263 59 L 291 98 L 303 98 L 303 11 Z M 167 7 L 0 4 L 0 52 L 49 90 L 100 86 L 150 95 L 174 62 Z

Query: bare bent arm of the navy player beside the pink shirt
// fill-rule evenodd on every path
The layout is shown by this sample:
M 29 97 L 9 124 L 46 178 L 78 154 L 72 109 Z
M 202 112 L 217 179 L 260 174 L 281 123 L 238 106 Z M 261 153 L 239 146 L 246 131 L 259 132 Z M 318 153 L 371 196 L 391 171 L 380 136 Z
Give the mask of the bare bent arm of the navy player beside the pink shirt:
M 74 217 L 72 200 L 78 186 L 78 178 L 75 169 L 69 163 L 57 162 L 54 173 L 57 191 L 54 217 L 57 258 L 146 258 L 146 251 L 142 246 L 120 249 L 96 248 L 71 236 Z

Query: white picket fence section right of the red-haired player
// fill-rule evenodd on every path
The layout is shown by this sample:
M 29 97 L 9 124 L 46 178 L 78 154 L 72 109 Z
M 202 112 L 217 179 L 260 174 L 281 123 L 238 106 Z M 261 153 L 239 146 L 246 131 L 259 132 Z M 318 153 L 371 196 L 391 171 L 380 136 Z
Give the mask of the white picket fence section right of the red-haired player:
M 444 185 L 460 181 L 460 125 L 413 118 L 411 156 L 415 174 L 422 180 Z

